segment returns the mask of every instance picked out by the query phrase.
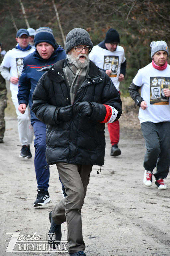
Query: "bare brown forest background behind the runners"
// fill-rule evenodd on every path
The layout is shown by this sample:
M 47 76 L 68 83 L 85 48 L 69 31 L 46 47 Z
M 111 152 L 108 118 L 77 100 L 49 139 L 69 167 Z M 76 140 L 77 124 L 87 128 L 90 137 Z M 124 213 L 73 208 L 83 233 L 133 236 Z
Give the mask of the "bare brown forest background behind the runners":
M 151 62 L 151 41 L 164 40 L 170 48 L 170 2 L 167 0 L 0 2 L 0 42 L 6 51 L 15 47 L 16 31 L 20 28 L 48 26 L 63 47 L 67 33 L 73 28 L 86 29 L 93 45 L 104 40 L 109 28 L 116 29 L 127 60 L 125 81 L 121 83 L 124 97 L 129 96 L 128 86 L 138 69 Z

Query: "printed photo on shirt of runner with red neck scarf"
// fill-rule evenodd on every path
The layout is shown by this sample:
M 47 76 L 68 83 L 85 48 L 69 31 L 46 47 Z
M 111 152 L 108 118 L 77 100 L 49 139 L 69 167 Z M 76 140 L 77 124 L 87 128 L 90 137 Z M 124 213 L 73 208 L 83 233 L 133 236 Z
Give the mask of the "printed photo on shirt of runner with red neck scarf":
M 169 97 L 164 94 L 164 89 L 170 89 L 170 77 L 150 77 L 150 104 L 168 105 Z

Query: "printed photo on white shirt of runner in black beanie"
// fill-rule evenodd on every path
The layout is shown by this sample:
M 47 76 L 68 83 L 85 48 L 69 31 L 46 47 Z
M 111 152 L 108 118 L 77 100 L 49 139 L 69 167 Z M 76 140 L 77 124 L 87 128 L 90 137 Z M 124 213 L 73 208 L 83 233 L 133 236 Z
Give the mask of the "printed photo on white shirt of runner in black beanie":
M 112 70 L 110 77 L 117 76 L 118 64 L 119 64 L 118 56 L 104 56 L 103 69 Z

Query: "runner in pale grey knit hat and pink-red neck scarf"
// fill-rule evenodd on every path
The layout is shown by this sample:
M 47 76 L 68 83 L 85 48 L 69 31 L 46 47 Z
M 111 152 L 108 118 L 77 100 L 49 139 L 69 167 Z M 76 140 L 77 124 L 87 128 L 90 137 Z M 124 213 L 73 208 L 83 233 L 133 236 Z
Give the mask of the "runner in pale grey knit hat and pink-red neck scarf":
M 167 63 L 168 46 L 164 41 L 153 41 L 152 62 L 139 69 L 129 93 L 140 107 L 139 120 L 146 142 L 143 182 L 152 186 L 152 176 L 158 189 L 166 189 L 164 179 L 170 167 L 170 65 Z M 141 95 L 139 89 L 141 87 Z M 164 96 L 160 95 L 160 92 Z M 153 97 L 153 94 L 155 97 Z M 156 172 L 153 170 L 156 167 Z

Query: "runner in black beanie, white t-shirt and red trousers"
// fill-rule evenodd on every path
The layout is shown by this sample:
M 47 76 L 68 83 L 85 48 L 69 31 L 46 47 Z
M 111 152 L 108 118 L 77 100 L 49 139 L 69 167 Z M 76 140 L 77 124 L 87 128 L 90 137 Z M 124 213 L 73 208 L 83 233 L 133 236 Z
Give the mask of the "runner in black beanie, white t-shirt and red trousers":
M 103 69 L 108 76 L 110 76 L 116 89 L 119 91 L 120 81 L 124 80 L 126 72 L 126 59 L 125 52 L 122 46 L 119 46 L 120 38 L 119 33 L 110 28 L 105 40 L 94 46 L 89 58 L 98 66 Z M 120 93 L 120 91 L 119 91 Z M 121 150 L 118 148 L 119 142 L 119 121 L 108 124 L 108 131 L 111 142 L 111 156 L 119 156 Z

